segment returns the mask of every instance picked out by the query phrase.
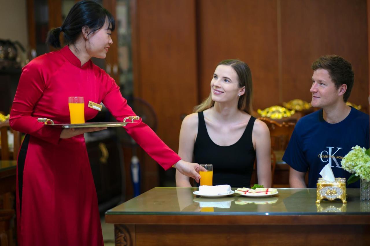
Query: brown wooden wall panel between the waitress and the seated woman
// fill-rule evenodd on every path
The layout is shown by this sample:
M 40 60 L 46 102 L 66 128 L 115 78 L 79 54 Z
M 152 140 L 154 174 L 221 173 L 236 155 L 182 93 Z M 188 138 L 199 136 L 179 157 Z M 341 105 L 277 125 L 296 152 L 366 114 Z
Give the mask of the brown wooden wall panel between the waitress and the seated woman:
M 140 0 L 131 10 L 134 95 L 154 107 L 158 136 L 177 152 L 181 115 L 198 95 L 195 1 Z M 143 191 L 158 184 L 159 167 L 144 156 Z

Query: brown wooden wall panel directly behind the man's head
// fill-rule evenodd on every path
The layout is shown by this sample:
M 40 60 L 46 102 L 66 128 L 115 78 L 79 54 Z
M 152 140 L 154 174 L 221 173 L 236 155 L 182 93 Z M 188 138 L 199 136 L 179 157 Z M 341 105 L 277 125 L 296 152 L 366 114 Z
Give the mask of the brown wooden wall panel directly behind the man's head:
M 283 101 L 311 101 L 311 64 L 336 54 L 351 62 L 349 101 L 367 107 L 369 91 L 366 0 L 281 1 Z

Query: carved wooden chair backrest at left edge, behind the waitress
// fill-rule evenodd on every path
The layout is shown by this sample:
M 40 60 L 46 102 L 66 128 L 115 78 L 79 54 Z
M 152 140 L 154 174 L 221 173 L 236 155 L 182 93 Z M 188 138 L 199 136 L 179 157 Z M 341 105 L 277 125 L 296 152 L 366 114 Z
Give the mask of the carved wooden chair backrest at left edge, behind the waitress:
M 13 158 L 10 158 L 11 151 L 8 145 L 8 130 L 13 132 Z M 12 130 L 9 125 L 9 120 L 0 123 L 0 134 L 1 134 L 1 160 L 17 160 L 18 151 L 21 144 L 21 133 L 19 131 Z

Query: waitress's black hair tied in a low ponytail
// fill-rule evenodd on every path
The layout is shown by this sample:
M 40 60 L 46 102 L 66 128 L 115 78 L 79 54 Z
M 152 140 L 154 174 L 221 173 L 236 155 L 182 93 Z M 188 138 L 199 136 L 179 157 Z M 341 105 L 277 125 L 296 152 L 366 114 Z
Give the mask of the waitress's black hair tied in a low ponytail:
M 115 21 L 108 10 L 101 7 L 95 1 L 83 0 L 77 2 L 69 11 L 61 27 L 49 31 L 46 43 L 55 48 L 60 47 L 59 35 L 64 33 L 64 40 L 67 44 L 73 44 L 82 33 L 82 27 L 90 28 L 90 35 L 103 27 L 105 20 L 110 24 L 110 30 L 114 30 Z

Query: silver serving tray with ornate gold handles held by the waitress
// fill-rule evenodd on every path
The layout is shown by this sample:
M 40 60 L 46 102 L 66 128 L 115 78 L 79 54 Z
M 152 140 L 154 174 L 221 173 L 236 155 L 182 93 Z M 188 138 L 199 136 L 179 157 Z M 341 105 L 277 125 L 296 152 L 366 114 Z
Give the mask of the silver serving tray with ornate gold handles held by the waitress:
M 47 118 L 38 118 L 38 122 L 44 122 L 47 126 L 59 127 L 59 128 L 81 128 L 81 127 L 118 127 L 118 126 L 126 126 L 129 123 L 137 123 L 134 120 L 139 120 L 139 116 L 128 116 L 123 119 L 122 122 L 86 122 L 83 124 L 54 124 L 54 121 Z M 130 120 L 130 121 L 126 121 Z

